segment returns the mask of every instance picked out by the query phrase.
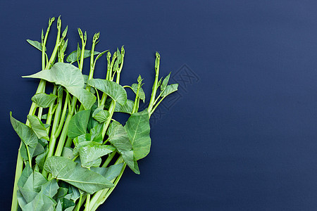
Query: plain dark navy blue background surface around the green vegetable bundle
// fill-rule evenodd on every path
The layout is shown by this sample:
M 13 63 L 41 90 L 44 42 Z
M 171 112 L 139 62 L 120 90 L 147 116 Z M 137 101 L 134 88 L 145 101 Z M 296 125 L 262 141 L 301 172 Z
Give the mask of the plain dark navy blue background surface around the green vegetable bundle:
M 125 45 L 121 82 L 141 74 L 148 99 L 155 51 L 180 83 L 151 120 L 141 174 L 126 170 L 100 210 L 316 210 L 316 11 L 313 0 L 1 1 L 1 210 L 19 146 L 9 111 L 25 121 L 38 81 L 20 76 L 41 68 L 25 39 L 58 15 L 68 53 L 77 27 L 101 33 L 97 51 Z M 105 68 L 104 57 L 96 76 Z

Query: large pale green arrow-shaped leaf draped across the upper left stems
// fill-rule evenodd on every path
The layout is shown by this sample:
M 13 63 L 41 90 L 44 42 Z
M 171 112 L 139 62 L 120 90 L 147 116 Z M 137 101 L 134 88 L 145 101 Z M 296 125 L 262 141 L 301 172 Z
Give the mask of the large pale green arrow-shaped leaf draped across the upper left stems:
M 42 70 L 23 77 L 44 79 L 65 87 L 82 103 L 85 109 L 91 108 L 96 101 L 96 96 L 84 89 L 85 81 L 80 69 L 68 63 L 56 63 L 51 70 Z

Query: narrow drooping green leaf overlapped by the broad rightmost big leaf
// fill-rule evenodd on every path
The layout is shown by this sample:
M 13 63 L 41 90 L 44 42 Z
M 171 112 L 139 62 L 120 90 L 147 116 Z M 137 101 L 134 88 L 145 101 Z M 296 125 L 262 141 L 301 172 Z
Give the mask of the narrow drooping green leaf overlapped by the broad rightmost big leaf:
M 139 174 L 139 167 L 132 151 L 132 143 L 129 141 L 125 128 L 119 122 L 112 122 L 109 125 L 107 134 L 110 143 L 117 148 L 125 163 L 133 172 Z

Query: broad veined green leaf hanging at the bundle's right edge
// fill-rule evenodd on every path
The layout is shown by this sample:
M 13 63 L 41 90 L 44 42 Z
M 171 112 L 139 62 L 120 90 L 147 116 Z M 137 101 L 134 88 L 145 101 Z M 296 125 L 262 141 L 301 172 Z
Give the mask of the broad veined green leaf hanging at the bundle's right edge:
M 139 113 L 133 113 L 125 124 L 125 130 L 132 143 L 135 159 L 139 160 L 147 156 L 151 148 L 149 113 L 147 109 Z

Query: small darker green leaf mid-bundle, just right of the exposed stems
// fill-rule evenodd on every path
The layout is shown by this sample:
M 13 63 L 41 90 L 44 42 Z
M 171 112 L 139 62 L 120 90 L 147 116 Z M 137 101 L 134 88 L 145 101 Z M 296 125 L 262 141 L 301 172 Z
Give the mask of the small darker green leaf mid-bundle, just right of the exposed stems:
M 90 110 L 82 110 L 73 115 L 68 125 L 68 137 L 70 139 L 86 134 L 89 116 Z

